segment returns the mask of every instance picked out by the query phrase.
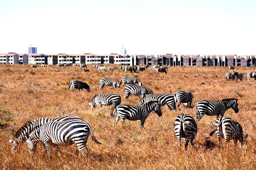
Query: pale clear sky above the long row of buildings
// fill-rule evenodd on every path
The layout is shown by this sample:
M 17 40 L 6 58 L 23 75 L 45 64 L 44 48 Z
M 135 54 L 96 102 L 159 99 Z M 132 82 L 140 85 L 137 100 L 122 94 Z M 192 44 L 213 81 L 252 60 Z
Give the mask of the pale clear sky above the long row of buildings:
M 254 54 L 256 0 L 0 0 L 0 53 Z

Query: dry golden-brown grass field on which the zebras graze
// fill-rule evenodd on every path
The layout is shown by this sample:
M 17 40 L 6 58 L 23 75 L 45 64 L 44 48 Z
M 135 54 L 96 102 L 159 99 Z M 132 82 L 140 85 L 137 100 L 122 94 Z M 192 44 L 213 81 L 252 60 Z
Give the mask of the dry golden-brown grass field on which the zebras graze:
M 111 65 L 113 67 L 113 65 Z M 195 147 L 184 149 L 177 146 L 174 134 L 174 120 L 182 114 L 195 117 L 195 109 L 180 106 L 177 112 L 162 107 L 163 116 L 154 112 L 140 128 L 140 121 L 117 123 L 109 113 L 112 106 L 96 106 L 91 111 L 88 102 L 98 93 L 121 95 L 122 103 L 137 105 L 140 96 L 131 95 L 124 100 L 124 87 L 112 89 L 105 86 L 99 90 L 102 77 L 121 80 L 123 71 L 97 72 L 92 65 L 89 72 L 79 67 L 51 66 L 30 68 L 30 65 L 0 65 L 0 169 L 255 169 L 256 168 L 256 81 L 226 81 L 227 67 L 169 67 L 167 74 L 140 72 L 138 78 L 154 93 L 168 93 L 172 90 L 191 91 L 192 106 L 202 99 L 221 100 L 238 98 L 239 113 L 232 109 L 225 115 L 241 123 L 249 134 L 248 143 L 242 149 L 235 148 L 233 141 L 229 148 L 219 147 L 216 135 L 209 137 L 216 117 L 204 116 L 198 122 Z M 255 68 L 238 67 L 239 72 Z M 134 73 L 127 74 L 134 76 Z M 68 85 L 77 79 L 88 83 L 90 92 L 76 89 L 71 93 Z M 102 145 L 94 144 L 89 138 L 88 156 L 82 157 L 75 145 L 61 146 L 62 156 L 53 151 L 52 160 L 39 146 L 35 157 L 29 155 L 26 143 L 21 152 L 12 154 L 8 139 L 26 121 L 39 117 L 56 117 L 74 114 L 88 122 Z M 2 121 L 2 122 L 1 122 Z M 223 141 L 224 142 L 224 141 Z

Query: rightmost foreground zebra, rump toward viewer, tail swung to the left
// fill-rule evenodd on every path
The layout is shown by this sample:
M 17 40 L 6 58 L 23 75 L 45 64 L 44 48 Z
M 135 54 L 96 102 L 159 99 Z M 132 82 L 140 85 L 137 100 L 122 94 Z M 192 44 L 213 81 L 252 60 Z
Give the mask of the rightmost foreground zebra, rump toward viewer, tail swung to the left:
M 233 139 L 235 146 L 239 140 L 241 147 L 241 145 L 245 143 L 245 140 L 248 137 L 248 134 L 243 134 L 242 126 L 238 122 L 232 120 L 230 117 L 222 116 L 218 118 L 216 120 L 215 127 L 216 128 L 211 131 L 210 136 L 216 132 L 220 145 L 222 145 L 221 139 L 224 138 L 226 144 L 229 143 L 230 139 Z

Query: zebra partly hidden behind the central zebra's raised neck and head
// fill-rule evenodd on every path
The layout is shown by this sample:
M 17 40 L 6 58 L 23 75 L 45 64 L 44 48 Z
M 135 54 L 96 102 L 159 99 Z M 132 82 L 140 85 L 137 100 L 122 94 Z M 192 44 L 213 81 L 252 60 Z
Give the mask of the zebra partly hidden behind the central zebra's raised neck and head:
M 174 102 L 174 97 L 173 95 L 166 93 L 166 94 L 150 94 L 142 99 L 140 99 L 139 104 L 143 105 L 151 100 L 158 100 L 160 106 L 167 105 L 169 110 L 176 110 L 175 102 Z

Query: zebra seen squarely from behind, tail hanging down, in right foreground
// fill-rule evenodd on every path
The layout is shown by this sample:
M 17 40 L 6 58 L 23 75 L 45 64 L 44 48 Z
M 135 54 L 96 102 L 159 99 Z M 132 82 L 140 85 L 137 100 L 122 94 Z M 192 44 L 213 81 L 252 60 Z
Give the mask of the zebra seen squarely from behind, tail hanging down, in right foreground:
M 191 145 L 194 145 L 194 139 L 197 134 L 197 125 L 195 120 L 189 115 L 179 115 L 175 119 L 175 135 L 177 138 L 178 146 L 180 146 L 181 137 L 185 138 L 185 149 L 187 149 L 190 141 Z

